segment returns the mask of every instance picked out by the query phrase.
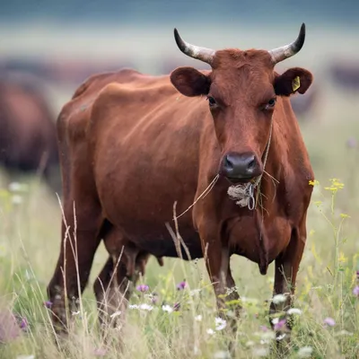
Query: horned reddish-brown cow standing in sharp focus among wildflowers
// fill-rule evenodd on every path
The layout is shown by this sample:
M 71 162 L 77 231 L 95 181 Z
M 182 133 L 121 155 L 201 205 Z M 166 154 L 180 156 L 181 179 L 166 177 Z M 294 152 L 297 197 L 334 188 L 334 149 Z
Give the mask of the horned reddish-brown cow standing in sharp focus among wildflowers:
M 173 225 L 176 201 L 181 237 L 190 258 L 206 253 L 219 309 L 226 288 L 235 285 L 232 254 L 257 263 L 262 275 L 275 261 L 274 293 L 288 295 L 270 310 L 289 308 L 313 180 L 289 96 L 306 92 L 312 75 L 301 67 L 284 74 L 274 68 L 304 38 L 302 24 L 298 39 L 285 47 L 215 51 L 188 44 L 175 30 L 180 50 L 211 71 L 100 74 L 74 93 L 57 120 L 66 223 L 48 294 L 58 329 L 66 326 L 65 293 L 79 296 L 74 252 L 83 291 L 101 239 L 117 239 L 94 285 L 102 309 L 115 305 L 104 290 L 127 290 L 129 298 L 126 265 L 120 258 L 114 267 L 124 243 L 156 257 L 189 259 L 185 250 L 177 252 L 165 225 Z

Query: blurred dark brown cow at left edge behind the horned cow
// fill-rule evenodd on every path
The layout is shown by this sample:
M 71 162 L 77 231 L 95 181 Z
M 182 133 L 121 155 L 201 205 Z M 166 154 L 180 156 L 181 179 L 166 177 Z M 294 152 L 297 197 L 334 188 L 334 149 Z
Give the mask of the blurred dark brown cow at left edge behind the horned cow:
M 43 171 L 47 178 L 58 171 L 55 118 L 28 74 L 0 76 L 0 165 L 7 171 Z

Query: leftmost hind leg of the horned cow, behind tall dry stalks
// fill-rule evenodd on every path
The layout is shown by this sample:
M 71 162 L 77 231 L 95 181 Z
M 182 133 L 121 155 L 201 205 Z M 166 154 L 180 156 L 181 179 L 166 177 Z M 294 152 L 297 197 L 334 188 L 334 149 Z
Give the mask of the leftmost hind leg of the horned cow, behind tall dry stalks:
M 68 331 L 71 316 L 67 309 L 77 311 L 82 307 L 79 299 L 87 285 L 93 257 L 100 244 L 101 212 L 95 206 L 86 207 L 92 209 L 74 214 L 74 206 L 65 206 L 60 254 L 48 284 L 51 319 L 57 334 Z

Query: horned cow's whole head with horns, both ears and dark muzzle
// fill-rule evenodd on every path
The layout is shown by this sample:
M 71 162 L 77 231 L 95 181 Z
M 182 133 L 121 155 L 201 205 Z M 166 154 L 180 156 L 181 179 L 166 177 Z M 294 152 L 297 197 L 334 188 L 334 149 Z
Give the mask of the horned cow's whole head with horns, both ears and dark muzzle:
M 220 173 L 232 182 L 258 177 L 278 96 L 304 93 L 311 86 L 312 75 L 303 68 L 290 68 L 280 75 L 274 70 L 278 62 L 302 48 L 305 25 L 293 43 L 270 51 L 215 51 L 188 44 L 176 29 L 174 36 L 183 53 L 212 67 L 209 74 L 179 67 L 171 73 L 171 83 L 185 96 L 206 96 L 223 154 Z

